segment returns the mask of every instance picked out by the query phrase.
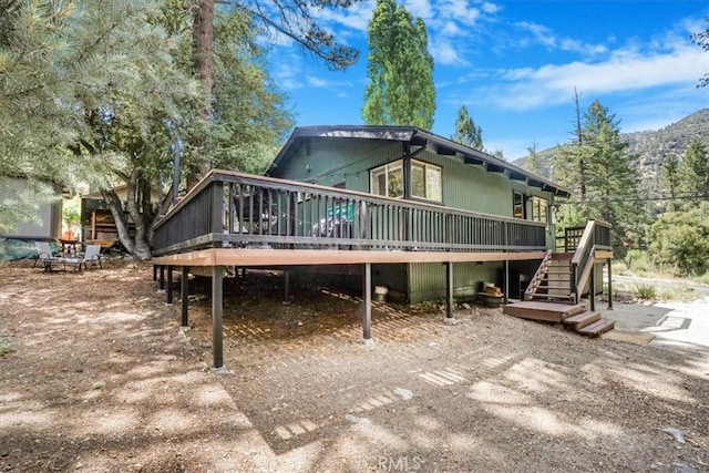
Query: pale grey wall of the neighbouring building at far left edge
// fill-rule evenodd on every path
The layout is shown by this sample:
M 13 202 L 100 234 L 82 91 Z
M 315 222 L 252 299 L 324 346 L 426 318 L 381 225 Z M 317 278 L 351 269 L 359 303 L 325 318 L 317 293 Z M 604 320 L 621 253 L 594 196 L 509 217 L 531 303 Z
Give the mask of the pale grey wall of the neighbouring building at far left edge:
M 3 183 L 7 187 L 0 191 L 0 198 L 12 197 L 28 189 L 27 181 L 22 178 L 10 177 L 3 179 Z M 38 204 L 34 217 L 35 222 L 22 222 L 7 236 L 27 239 L 59 238 L 62 232 L 62 202 L 59 193 L 56 200 Z

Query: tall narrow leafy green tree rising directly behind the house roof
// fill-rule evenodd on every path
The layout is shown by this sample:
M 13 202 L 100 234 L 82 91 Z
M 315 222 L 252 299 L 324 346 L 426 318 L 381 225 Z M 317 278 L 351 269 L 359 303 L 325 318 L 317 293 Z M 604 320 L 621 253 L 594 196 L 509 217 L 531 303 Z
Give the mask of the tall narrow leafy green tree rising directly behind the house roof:
M 368 29 L 369 84 L 362 119 L 369 125 L 433 126 L 433 58 L 423 20 L 395 0 L 377 0 Z

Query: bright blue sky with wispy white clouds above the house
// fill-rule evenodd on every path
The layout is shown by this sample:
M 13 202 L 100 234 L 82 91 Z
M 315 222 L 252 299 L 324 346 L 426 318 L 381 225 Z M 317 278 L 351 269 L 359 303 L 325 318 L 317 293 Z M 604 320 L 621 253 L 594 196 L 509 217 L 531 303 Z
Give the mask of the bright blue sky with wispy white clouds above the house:
M 402 3 L 401 0 L 399 0 Z M 574 88 L 586 110 L 598 100 L 623 132 L 658 130 L 709 106 L 709 52 L 690 34 L 707 28 L 706 0 L 405 0 L 429 32 L 436 112 L 432 132 L 450 136 L 461 105 L 490 151 L 512 161 L 536 144 L 569 137 Z M 296 124 L 361 124 L 367 24 L 374 1 L 322 11 L 319 23 L 361 51 L 330 71 L 291 42 L 273 47 L 271 74 L 289 96 Z

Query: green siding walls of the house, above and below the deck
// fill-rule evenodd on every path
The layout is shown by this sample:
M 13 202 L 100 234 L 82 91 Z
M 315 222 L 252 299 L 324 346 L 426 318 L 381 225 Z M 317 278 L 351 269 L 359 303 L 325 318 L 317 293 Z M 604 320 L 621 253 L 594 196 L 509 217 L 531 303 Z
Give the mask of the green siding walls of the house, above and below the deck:
M 319 185 L 339 185 L 347 189 L 369 193 L 370 171 L 402 156 L 403 146 L 400 142 L 310 138 L 300 145 L 287 163 L 271 169 L 269 175 Z M 515 191 L 526 197 L 536 195 L 546 198 L 549 208 L 554 204 L 551 193 L 528 187 L 524 182 L 512 181 L 503 173 L 492 173 L 482 166 L 465 164 L 458 157 L 439 156 L 431 151 L 424 151 L 414 158 L 441 167 L 442 204 L 446 207 L 513 217 Z M 530 202 L 526 214 L 527 218 L 532 215 Z M 547 225 L 546 235 L 547 248 L 554 248 L 554 226 L 551 223 Z M 471 299 L 483 281 L 495 282 L 502 287 L 502 264 L 455 265 L 454 296 L 459 299 Z M 442 265 L 382 265 L 372 270 L 376 285 L 382 284 L 390 290 L 404 292 L 412 304 L 445 297 L 445 270 Z M 531 271 L 533 275 L 534 270 L 517 270 L 516 282 L 511 279 L 511 287 L 514 288 L 516 285 L 518 292 L 518 274 Z

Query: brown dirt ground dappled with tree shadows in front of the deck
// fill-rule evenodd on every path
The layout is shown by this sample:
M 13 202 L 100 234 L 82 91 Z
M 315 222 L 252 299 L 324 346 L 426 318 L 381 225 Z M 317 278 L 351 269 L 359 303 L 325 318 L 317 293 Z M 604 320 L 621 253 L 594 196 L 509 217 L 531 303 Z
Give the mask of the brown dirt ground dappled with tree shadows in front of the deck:
M 0 471 L 709 471 L 709 360 L 246 274 L 189 330 L 148 265 L 0 267 Z M 709 317 L 709 315 L 708 315 Z

